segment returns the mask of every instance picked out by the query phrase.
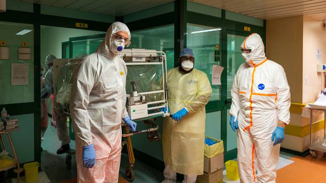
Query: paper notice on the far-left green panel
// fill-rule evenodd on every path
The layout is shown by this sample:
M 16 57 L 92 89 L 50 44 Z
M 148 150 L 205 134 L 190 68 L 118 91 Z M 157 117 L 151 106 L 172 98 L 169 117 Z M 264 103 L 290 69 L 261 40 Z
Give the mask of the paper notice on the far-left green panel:
M 28 64 L 11 64 L 11 85 L 29 85 Z

